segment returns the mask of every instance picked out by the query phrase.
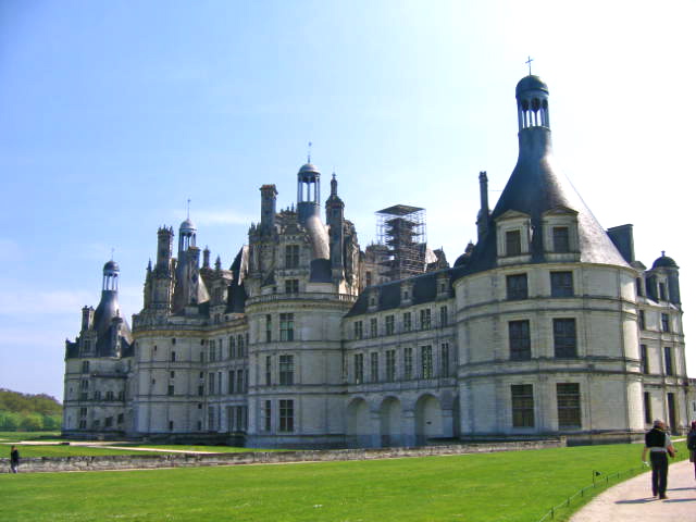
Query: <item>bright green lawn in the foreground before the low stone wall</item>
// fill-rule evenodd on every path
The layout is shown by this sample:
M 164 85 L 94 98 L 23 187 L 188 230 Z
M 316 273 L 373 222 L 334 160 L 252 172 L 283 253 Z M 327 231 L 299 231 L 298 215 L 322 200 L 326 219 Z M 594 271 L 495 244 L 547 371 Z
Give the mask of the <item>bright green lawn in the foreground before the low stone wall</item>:
M 455 457 L 0 475 L 13 521 L 534 522 L 641 445 Z M 680 457 L 687 455 L 678 444 Z M 647 490 L 647 483 L 646 483 Z M 556 520 L 559 520 L 558 518 Z

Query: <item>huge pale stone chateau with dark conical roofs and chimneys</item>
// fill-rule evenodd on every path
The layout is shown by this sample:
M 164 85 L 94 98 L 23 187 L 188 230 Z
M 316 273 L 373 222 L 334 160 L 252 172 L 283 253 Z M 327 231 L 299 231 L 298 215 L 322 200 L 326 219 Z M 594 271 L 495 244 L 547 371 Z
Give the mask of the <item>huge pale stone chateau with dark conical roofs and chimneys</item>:
M 323 220 L 311 163 L 290 209 L 261 186 L 229 269 L 201 259 L 189 219 L 161 227 L 132 326 L 109 261 L 66 341 L 63 434 L 272 448 L 685 431 L 676 263 L 636 260 L 632 225 L 604 229 L 557 171 L 546 84 L 515 96 L 517 165 L 493 210 L 480 174 L 477 241 L 451 266 L 401 204 L 361 250 L 335 177 Z

